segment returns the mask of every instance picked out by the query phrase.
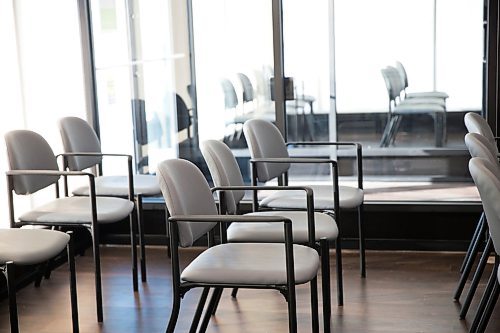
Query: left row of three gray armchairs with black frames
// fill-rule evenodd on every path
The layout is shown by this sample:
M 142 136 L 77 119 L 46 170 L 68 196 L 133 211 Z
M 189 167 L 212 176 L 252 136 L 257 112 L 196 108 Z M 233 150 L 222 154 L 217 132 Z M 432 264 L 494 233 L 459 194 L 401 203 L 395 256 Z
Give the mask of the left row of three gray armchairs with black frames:
M 101 265 L 99 252 L 99 226 L 123 219 L 130 220 L 132 250 L 132 281 L 134 291 L 138 290 L 138 266 L 136 231 L 139 233 L 141 254 L 141 277 L 146 281 L 146 259 L 143 235 L 142 197 L 161 193 L 158 181 L 153 175 L 133 175 L 132 156 L 104 154 L 94 130 L 87 122 L 76 117 L 63 118 L 59 122 L 65 153 L 55 155 L 48 142 L 38 133 L 29 130 L 14 130 L 5 135 L 10 171 L 7 172 L 8 206 L 11 229 L 2 230 L 0 264 L 8 278 L 12 278 L 15 265 L 43 262 L 61 251 L 63 244 L 70 244 L 69 237 L 59 231 L 15 229 L 26 225 L 45 226 L 52 229 L 83 228 L 90 232 L 95 264 L 95 293 L 98 322 L 103 321 Z M 124 158 L 128 165 L 126 176 L 98 176 L 86 172 L 88 168 L 100 166 L 103 157 Z M 62 170 L 58 165 L 62 158 Z M 60 195 L 59 180 L 64 179 L 64 195 Z M 88 185 L 76 188 L 69 195 L 68 178 L 86 177 Z M 16 216 L 15 195 L 32 195 L 40 190 L 56 188 L 56 198 L 42 206 Z M 15 195 L 14 195 L 15 194 Z M 137 230 L 138 228 L 138 230 Z M 50 232 L 47 233 L 47 232 Z M 24 241 L 3 242 L 13 234 Z M 32 248 L 27 248 L 29 242 Z M 10 246 L 12 245 L 12 246 Z M 69 245 L 68 245 L 69 246 Z M 72 267 L 71 290 L 73 303 L 73 331 L 78 331 L 76 309 L 76 285 L 74 285 L 73 254 L 69 255 Z M 39 284 L 39 281 L 38 281 Z M 15 332 L 17 312 L 15 305 L 15 283 L 9 282 L 11 325 Z

